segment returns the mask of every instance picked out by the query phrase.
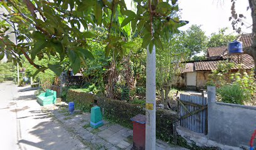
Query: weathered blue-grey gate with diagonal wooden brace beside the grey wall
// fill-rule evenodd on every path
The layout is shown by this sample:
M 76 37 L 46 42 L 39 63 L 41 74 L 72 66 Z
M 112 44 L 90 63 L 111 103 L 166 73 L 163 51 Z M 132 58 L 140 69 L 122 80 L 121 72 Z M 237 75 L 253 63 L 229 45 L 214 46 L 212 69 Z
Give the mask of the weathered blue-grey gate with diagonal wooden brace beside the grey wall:
M 196 133 L 207 134 L 207 98 L 180 94 L 180 125 Z

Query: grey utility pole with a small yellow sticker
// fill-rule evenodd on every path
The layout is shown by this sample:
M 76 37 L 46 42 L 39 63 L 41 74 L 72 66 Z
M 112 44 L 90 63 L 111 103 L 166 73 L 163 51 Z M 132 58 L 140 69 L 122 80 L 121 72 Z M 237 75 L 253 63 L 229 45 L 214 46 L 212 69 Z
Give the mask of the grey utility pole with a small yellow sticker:
M 156 149 L 156 47 L 149 53 L 146 66 L 146 149 Z

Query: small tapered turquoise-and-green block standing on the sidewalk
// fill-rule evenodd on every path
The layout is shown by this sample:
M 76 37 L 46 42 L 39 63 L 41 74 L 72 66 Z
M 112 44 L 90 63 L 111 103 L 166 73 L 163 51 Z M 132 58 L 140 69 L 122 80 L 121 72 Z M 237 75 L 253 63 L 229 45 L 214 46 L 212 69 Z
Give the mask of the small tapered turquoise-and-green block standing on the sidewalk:
M 94 129 L 99 128 L 103 125 L 102 113 L 99 106 L 91 108 L 90 126 Z

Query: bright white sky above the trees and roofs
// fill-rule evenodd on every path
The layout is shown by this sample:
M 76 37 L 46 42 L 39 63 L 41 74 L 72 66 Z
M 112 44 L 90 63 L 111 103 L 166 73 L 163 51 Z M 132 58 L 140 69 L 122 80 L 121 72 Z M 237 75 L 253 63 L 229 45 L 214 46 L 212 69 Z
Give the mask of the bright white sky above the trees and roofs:
M 127 8 L 131 9 L 131 0 L 125 0 Z M 179 9 L 181 9 L 181 19 L 189 21 L 189 23 L 180 27 L 184 31 L 192 24 L 201 25 L 201 29 L 205 31 L 206 36 L 210 36 L 213 32 L 218 32 L 223 27 L 228 27 L 227 34 L 237 34 L 233 31 L 231 21 L 231 0 L 178 0 Z M 239 14 L 247 17 L 244 19 L 245 26 L 252 25 L 252 16 L 248 0 L 236 0 L 236 10 Z M 252 32 L 251 27 L 242 27 L 243 33 Z

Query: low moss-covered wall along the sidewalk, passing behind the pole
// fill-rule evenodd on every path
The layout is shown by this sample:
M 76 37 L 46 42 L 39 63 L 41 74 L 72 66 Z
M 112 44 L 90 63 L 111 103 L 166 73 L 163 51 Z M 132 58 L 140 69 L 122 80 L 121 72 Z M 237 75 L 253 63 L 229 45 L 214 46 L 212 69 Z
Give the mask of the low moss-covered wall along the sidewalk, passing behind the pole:
M 137 114 L 145 114 L 145 108 L 138 104 L 126 103 L 85 93 L 77 89 L 70 89 L 67 93 L 67 101 L 75 102 L 75 107 L 82 111 L 90 111 L 92 103 L 97 100 L 102 109 L 103 116 L 122 126 L 132 128 L 131 118 Z M 172 142 L 173 123 L 178 120 L 178 115 L 169 110 L 157 109 L 156 111 L 156 136 L 164 141 Z

